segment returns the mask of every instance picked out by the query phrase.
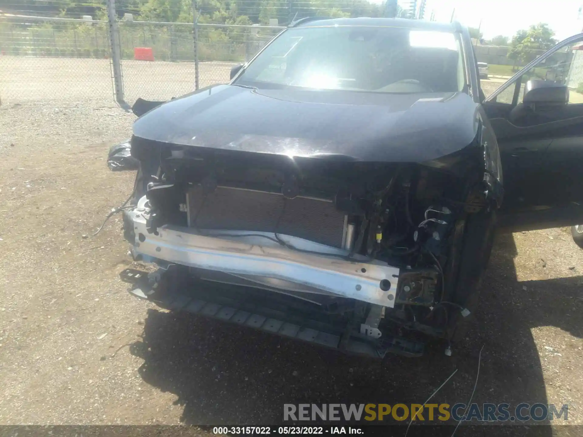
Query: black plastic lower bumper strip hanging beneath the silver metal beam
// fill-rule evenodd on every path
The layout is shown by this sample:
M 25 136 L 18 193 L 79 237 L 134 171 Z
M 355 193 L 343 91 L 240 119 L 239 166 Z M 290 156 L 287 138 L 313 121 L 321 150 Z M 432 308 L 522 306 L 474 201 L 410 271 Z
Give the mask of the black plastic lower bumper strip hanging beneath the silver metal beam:
M 222 284 L 205 283 L 204 281 L 176 287 L 172 281 L 148 281 L 149 276 L 159 273 L 139 272 L 126 269 L 120 273 L 122 280 L 132 283 L 129 290 L 136 297 L 147 299 L 174 311 L 186 311 L 196 315 L 214 318 L 234 325 L 252 327 L 266 333 L 282 337 L 302 340 L 339 350 L 343 353 L 366 355 L 373 358 L 383 358 L 387 353 L 405 357 L 420 357 L 423 355 L 424 344 L 412 339 L 404 339 L 391 334 L 381 338 L 373 338 L 360 334 L 350 324 L 338 325 L 331 320 L 317 320 L 308 313 L 298 316 L 294 312 L 282 311 L 281 305 L 273 305 L 270 299 L 250 298 L 227 287 L 220 289 Z M 170 271 L 163 273 L 170 274 Z M 154 284 L 164 283 L 166 286 L 152 288 Z

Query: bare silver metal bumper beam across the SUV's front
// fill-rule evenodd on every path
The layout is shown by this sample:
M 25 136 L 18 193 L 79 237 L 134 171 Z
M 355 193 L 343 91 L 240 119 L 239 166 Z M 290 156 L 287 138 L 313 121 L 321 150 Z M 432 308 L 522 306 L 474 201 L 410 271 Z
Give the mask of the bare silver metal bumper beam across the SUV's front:
M 147 208 L 142 199 L 136 209 L 125 213 L 131 226 L 135 258 L 198 267 L 233 275 L 264 277 L 296 284 L 298 288 L 337 297 L 356 299 L 393 308 L 399 269 L 381 262 L 346 260 L 342 251 L 300 241 L 307 247 L 326 249 L 331 255 L 317 255 L 283 247 L 266 238 L 243 235 L 196 234 L 192 228 L 164 225 L 148 232 Z M 151 231 L 151 230 L 150 230 Z M 125 232 L 132 234 L 132 232 Z M 311 246 L 310 246 L 311 245 Z M 299 245 L 296 244 L 296 247 Z M 315 252 L 315 251 L 314 251 Z

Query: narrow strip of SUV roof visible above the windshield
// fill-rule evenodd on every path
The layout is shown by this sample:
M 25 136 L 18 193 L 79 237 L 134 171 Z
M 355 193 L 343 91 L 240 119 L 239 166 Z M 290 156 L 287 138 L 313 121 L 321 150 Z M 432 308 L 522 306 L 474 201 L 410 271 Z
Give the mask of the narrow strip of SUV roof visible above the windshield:
M 290 24 L 291 27 L 321 27 L 321 26 L 374 26 L 374 27 L 406 27 L 409 29 L 434 30 L 442 32 L 461 31 L 458 22 L 438 23 L 405 18 L 326 18 L 307 17 Z

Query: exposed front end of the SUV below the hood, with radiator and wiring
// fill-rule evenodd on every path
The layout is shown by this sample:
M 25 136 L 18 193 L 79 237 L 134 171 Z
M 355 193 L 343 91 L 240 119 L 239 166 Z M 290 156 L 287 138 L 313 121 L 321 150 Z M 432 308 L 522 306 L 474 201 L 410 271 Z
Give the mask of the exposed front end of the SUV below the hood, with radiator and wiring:
M 297 278 L 273 270 L 262 276 L 185 262 L 191 279 L 254 288 L 268 300 L 278 294 L 286 305 L 300 300 L 324 319 L 356 323 L 361 334 L 375 338 L 403 329 L 444 337 L 454 313 L 467 312 L 448 297 L 465 216 L 483 201 L 473 189 L 476 178 L 421 164 L 206 153 L 172 145 L 160 149 L 157 164 L 156 175 L 142 181 L 147 234 L 177 226 L 233 241 L 231 253 L 245 251 L 236 243 L 246 243 L 269 253 L 285 249 L 286 255 L 274 255 L 283 259 L 290 253 L 315 256 L 314 266 L 320 259 L 347 262 L 362 276 L 373 266 L 395 269 L 375 279 L 375 292 L 390 301 L 363 299 L 368 288 L 360 284 L 356 294 L 335 294 L 331 290 L 338 288 L 301 277 L 313 276 L 307 271 L 296 272 Z M 128 234 L 130 241 L 138 238 Z

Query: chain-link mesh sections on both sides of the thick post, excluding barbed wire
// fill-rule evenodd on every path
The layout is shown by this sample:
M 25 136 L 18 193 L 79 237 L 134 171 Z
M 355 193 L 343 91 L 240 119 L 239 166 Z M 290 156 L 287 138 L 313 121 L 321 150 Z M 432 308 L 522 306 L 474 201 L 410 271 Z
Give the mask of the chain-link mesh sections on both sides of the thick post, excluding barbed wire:
M 229 82 L 280 26 L 118 20 L 122 96 L 168 100 Z M 0 101 L 107 101 L 114 96 L 108 21 L 0 16 Z M 195 32 L 196 28 L 196 32 Z M 146 50 L 151 57 L 138 52 Z

